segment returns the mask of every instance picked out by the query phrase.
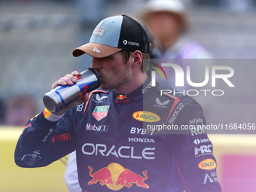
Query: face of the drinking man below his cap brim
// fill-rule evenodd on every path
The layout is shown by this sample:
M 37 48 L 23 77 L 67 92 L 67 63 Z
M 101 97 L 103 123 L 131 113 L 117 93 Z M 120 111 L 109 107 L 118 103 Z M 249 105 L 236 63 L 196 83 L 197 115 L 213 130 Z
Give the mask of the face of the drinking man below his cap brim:
M 99 74 L 103 90 L 118 89 L 131 80 L 131 64 L 129 60 L 125 63 L 120 51 L 111 56 L 93 58 L 90 67 Z

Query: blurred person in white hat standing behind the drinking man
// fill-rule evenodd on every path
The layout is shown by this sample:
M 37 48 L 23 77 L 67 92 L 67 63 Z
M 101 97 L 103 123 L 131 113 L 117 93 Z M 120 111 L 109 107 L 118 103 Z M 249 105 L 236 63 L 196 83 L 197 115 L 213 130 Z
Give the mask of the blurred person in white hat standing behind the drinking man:
M 137 12 L 136 17 L 145 23 L 154 36 L 154 44 L 158 45 L 152 50 L 152 58 L 172 59 L 169 62 L 178 64 L 184 72 L 187 66 L 191 66 L 193 80 L 201 82 L 200 72 L 203 68 L 195 65 L 199 62 L 196 59 L 208 59 L 203 62 L 210 66 L 212 56 L 203 45 L 188 37 L 189 22 L 184 4 L 180 0 L 149 0 L 140 5 Z M 175 71 L 172 68 L 166 68 L 165 72 L 168 81 L 163 81 L 162 84 L 181 93 L 188 90 L 187 84 L 184 87 L 175 86 Z M 202 101 L 200 103 L 203 105 Z

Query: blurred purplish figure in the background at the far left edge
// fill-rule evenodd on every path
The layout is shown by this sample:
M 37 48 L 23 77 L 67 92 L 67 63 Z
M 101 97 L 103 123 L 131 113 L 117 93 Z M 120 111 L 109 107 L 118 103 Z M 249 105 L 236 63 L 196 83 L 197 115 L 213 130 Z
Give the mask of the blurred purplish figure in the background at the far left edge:
M 37 105 L 32 96 L 12 96 L 7 101 L 3 123 L 8 126 L 24 126 L 29 118 L 35 116 L 36 111 Z

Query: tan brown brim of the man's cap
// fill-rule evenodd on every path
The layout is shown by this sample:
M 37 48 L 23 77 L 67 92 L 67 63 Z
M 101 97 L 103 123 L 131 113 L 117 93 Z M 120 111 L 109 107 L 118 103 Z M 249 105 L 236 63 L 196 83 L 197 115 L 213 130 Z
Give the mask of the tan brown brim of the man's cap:
M 110 47 L 104 44 L 88 43 L 73 50 L 72 54 L 73 56 L 81 56 L 84 53 L 87 53 L 90 56 L 102 58 L 117 53 L 120 50 L 122 49 Z

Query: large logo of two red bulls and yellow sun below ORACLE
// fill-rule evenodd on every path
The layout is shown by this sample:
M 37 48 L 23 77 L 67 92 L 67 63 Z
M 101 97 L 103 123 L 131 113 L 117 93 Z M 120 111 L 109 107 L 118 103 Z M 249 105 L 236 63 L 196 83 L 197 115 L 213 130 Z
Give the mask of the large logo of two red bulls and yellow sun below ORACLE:
M 123 187 L 132 187 L 136 184 L 138 187 L 148 189 L 148 184 L 145 184 L 145 180 L 148 179 L 148 171 L 142 172 L 142 175 L 136 174 L 130 169 L 125 169 L 118 163 L 111 163 L 107 167 L 100 169 L 97 172 L 93 172 L 93 168 L 88 166 L 90 169 L 89 175 L 93 178 L 87 184 L 99 184 L 106 185 L 111 190 L 120 190 Z

